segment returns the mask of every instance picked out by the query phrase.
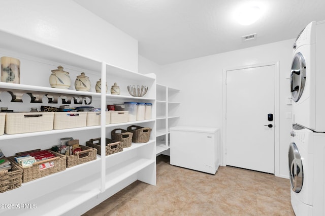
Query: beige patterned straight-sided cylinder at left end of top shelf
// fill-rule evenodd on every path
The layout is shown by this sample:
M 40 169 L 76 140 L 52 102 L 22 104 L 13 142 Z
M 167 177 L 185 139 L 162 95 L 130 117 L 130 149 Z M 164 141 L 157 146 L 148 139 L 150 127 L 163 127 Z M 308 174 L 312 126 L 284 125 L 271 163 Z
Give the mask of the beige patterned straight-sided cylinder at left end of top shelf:
M 1 57 L 1 81 L 20 83 L 20 61 L 19 59 L 3 56 Z

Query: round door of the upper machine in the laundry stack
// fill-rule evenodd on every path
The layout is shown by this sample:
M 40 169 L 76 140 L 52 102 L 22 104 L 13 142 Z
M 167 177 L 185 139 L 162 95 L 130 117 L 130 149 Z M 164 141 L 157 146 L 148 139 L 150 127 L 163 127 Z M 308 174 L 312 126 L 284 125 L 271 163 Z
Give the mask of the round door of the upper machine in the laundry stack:
M 303 94 L 306 82 L 306 63 L 301 53 L 296 53 L 291 65 L 291 98 L 297 102 Z

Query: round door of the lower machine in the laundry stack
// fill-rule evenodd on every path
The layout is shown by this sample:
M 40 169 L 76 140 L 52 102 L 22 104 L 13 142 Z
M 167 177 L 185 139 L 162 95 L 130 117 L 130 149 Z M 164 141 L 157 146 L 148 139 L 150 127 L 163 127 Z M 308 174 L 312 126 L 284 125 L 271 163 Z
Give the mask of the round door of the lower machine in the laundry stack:
M 299 193 L 304 183 L 304 170 L 301 156 L 295 143 L 290 143 L 288 156 L 291 189 Z

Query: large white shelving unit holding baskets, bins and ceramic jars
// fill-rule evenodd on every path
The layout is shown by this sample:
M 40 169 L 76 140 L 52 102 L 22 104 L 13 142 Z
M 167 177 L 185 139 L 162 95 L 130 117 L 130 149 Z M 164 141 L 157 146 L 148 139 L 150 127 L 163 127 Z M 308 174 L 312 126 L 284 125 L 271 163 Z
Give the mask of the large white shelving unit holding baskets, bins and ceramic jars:
M 0 194 L 2 203 L 12 204 L 10 207 L 0 208 L 4 215 L 81 215 L 88 209 L 98 205 L 119 190 L 136 180 L 156 184 L 156 79 L 155 74 L 139 74 L 109 65 L 101 60 L 94 60 L 77 53 L 40 44 L 6 32 L 0 32 L 0 55 L 18 58 L 21 62 L 20 83 L 12 84 L 0 82 L 0 107 L 8 107 L 15 111 L 29 111 L 30 107 L 49 105 L 43 97 L 42 103 L 32 103 L 28 95 L 23 96 L 23 102 L 11 102 L 7 90 L 23 90 L 43 93 L 86 95 L 92 98 L 87 106 L 106 109 L 107 104 L 123 102 L 152 103 L 152 119 L 144 121 L 107 124 L 106 113 L 101 115 L 101 125 L 85 126 L 52 131 L 2 135 L 0 149 L 6 156 L 15 155 L 32 149 L 49 149 L 59 144 L 60 138 L 73 137 L 79 139 L 81 145 L 89 139 L 102 140 L 101 155 L 97 159 L 77 165 L 55 174 L 23 183 L 21 187 Z M 69 90 L 50 88 L 49 76 L 51 70 L 58 65 L 70 72 L 72 86 Z M 74 80 L 81 72 L 85 72 L 91 81 L 90 92 L 74 90 Z M 117 82 L 121 93 L 95 93 L 94 87 L 99 79 L 106 80 L 110 86 Z M 127 85 L 146 85 L 147 94 L 142 97 L 132 97 L 127 92 Z M 71 107 L 85 106 L 70 104 Z M 147 143 L 132 143 L 131 147 L 122 152 L 105 155 L 105 139 L 111 138 L 111 131 L 115 128 L 126 129 L 129 125 L 140 125 L 152 128 L 150 140 Z M 18 208 L 17 206 L 25 207 Z M 26 207 L 27 206 L 27 207 Z

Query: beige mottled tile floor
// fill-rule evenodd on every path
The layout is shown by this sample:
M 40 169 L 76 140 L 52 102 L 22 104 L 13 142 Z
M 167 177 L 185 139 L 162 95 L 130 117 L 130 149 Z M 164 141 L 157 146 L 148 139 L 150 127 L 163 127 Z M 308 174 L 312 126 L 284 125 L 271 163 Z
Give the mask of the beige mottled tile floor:
M 157 157 L 157 185 L 136 181 L 83 216 L 295 215 L 290 183 L 270 174 L 220 166 L 215 175 Z

